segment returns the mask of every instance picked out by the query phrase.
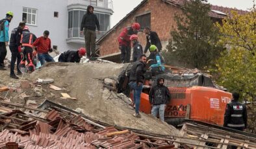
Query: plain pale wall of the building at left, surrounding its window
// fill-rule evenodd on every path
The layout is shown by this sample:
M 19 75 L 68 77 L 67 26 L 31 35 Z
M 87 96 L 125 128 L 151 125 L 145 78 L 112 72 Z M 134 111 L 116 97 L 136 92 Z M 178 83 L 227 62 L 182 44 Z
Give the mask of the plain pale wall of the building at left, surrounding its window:
M 43 35 L 44 30 L 49 30 L 51 45 L 57 45 L 58 51 L 68 49 L 78 49 L 79 43 L 67 44 L 68 37 L 68 1 L 67 0 L 11 0 L 1 1 L 0 18 L 4 18 L 6 12 L 14 12 L 14 18 L 10 23 L 9 35 L 12 29 L 18 27 L 22 21 L 23 7 L 37 9 L 36 25 L 28 25 L 32 33 L 37 37 Z M 54 12 L 58 12 L 58 17 L 54 17 Z M 8 51 L 10 52 L 10 51 Z

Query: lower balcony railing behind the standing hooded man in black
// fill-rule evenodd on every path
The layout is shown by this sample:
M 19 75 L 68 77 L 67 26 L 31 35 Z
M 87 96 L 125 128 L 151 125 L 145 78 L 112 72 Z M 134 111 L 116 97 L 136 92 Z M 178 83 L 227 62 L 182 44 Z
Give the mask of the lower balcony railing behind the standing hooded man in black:
M 104 36 L 106 32 L 99 31 L 99 34 L 96 32 L 96 40 L 99 40 L 102 36 Z M 81 38 L 84 39 L 84 34 L 80 34 L 80 28 L 71 28 L 68 29 L 68 39 L 71 38 Z

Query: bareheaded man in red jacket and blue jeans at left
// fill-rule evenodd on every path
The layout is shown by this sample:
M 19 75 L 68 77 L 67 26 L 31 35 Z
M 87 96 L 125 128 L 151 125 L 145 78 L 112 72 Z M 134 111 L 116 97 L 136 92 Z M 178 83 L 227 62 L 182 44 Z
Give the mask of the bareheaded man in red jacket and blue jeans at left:
M 53 58 L 48 54 L 48 52 L 53 52 L 51 48 L 51 40 L 48 38 L 49 31 L 44 31 L 44 36 L 37 38 L 36 41 L 32 44 L 33 48 L 37 47 L 37 56 L 40 60 L 41 65 L 44 65 L 46 62 L 55 62 Z

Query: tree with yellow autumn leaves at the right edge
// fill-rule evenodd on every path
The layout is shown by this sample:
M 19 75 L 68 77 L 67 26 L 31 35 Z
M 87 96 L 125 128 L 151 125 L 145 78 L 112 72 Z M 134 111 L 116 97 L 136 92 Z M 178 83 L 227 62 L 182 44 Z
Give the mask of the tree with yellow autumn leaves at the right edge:
M 222 52 L 217 61 L 218 84 L 229 91 L 237 91 L 242 98 L 251 100 L 256 97 L 256 11 L 255 6 L 250 12 L 231 16 L 218 24 L 222 33 L 220 42 L 229 47 Z

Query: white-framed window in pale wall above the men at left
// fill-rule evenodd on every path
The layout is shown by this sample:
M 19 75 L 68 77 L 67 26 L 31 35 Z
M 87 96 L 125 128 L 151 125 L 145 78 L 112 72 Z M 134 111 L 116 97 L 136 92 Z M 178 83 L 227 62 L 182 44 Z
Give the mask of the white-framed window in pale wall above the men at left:
M 36 14 L 36 9 L 23 7 L 22 21 L 27 25 L 36 25 Z

